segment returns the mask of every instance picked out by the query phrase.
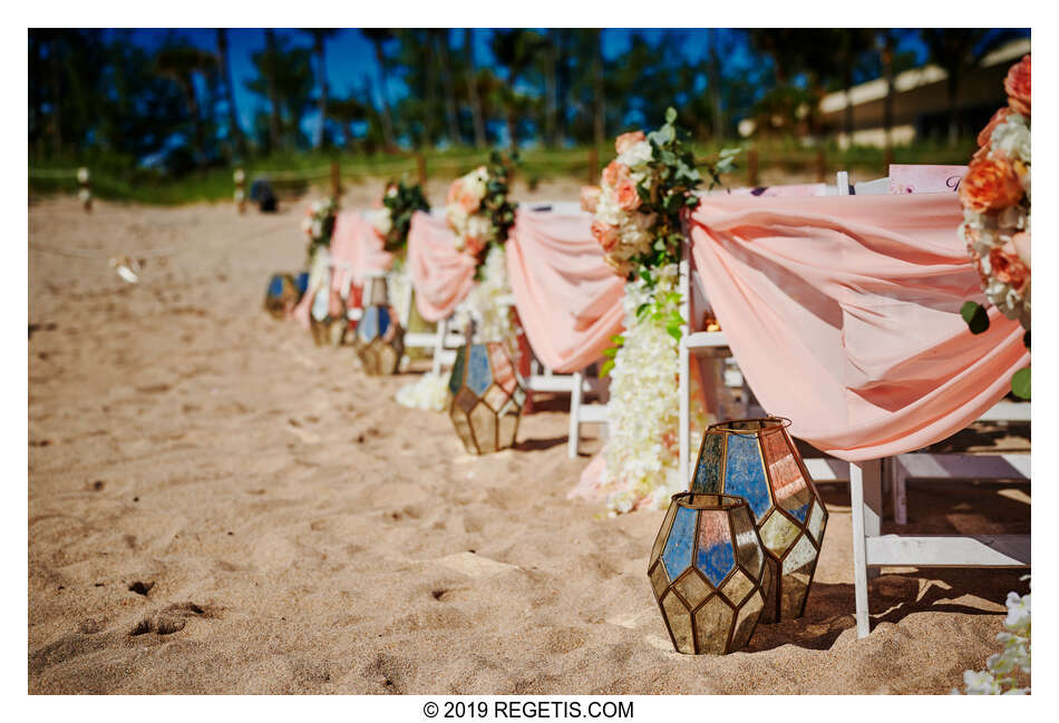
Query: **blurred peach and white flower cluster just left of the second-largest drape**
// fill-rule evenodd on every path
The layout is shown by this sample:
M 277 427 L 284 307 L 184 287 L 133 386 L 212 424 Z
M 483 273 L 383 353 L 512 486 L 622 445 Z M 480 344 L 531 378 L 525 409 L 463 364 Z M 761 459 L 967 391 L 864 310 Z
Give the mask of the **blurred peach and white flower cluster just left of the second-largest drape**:
M 456 248 L 474 256 L 479 272 L 489 246 L 503 245 L 515 223 L 515 204 L 507 198 L 508 165 L 493 152 L 488 164 L 457 178 L 448 189 L 445 215 L 456 234 Z

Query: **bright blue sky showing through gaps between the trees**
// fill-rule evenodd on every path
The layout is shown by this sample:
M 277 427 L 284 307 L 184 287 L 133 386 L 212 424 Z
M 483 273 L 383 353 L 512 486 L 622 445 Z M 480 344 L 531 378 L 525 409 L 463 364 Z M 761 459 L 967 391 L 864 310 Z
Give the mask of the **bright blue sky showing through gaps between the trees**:
M 173 32 L 205 50 L 216 50 L 216 31 L 213 28 L 136 29 L 133 31 L 133 39 L 147 48 L 154 48 L 161 45 L 167 35 Z M 450 32 L 454 47 L 463 47 L 464 30 L 454 29 Z M 633 32 L 642 33 L 651 43 L 673 43 L 677 50 L 690 61 L 701 59 L 708 48 L 706 33 L 697 29 L 655 28 L 633 31 L 623 28 L 611 28 L 603 31 L 603 55 L 608 58 L 621 56 L 628 49 Z M 488 66 L 492 62 L 490 33 L 489 29 L 479 29 L 474 32 L 476 60 L 482 66 Z M 730 31 L 721 29 L 719 33 L 727 36 Z M 301 30 L 281 28 L 276 30 L 276 35 L 286 39 L 291 45 L 305 47 L 312 45 L 310 36 Z M 251 57 L 254 52 L 264 49 L 264 30 L 261 28 L 229 30 L 229 59 L 232 65 L 235 86 L 235 105 L 239 108 L 240 120 L 244 129 L 252 126 L 254 115 L 259 109 L 265 108 L 266 104 L 263 97 L 246 88 L 246 82 L 256 75 Z M 736 47 L 733 55 L 736 57 L 732 57 L 731 60 L 737 66 L 744 66 L 750 61 L 750 55 L 741 43 Z M 365 87 L 369 77 L 372 81 L 378 79 L 378 65 L 375 60 L 372 46 L 358 29 L 339 30 L 338 35 L 328 40 L 327 72 L 331 97 L 336 98 L 346 97 L 356 88 Z M 372 87 L 378 92 L 378 84 L 373 82 Z M 391 99 L 399 98 L 404 92 L 404 86 L 399 80 L 391 80 L 388 90 Z M 378 104 L 378 98 L 376 98 L 376 102 Z M 314 124 L 315 117 L 312 114 L 307 114 L 303 118 L 303 127 L 308 129 Z

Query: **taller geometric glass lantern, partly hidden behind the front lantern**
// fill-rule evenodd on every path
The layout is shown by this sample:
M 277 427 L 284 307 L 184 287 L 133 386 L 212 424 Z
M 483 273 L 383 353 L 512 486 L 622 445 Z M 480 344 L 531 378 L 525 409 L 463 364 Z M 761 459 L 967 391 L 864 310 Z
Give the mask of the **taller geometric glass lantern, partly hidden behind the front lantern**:
M 824 543 L 827 508 L 787 433 L 789 419 L 710 424 L 691 491 L 746 498 L 773 569 L 762 623 L 800 617 Z

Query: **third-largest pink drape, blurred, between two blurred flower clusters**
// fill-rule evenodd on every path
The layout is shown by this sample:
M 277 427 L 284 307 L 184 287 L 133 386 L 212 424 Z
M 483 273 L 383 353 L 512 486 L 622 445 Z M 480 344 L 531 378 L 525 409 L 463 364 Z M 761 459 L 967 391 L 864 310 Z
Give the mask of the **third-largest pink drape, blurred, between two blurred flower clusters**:
M 475 262 L 456 251 L 445 218 L 421 211 L 408 228 L 408 273 L 416 290 L 416 306 L 426 321 L 447 317 L 474 285 Z

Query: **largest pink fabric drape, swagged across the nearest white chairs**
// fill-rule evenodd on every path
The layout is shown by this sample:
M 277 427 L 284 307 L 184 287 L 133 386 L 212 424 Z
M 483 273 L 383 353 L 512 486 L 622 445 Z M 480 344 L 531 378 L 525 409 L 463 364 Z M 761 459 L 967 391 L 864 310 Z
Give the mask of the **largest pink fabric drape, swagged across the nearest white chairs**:
M 707 197 L 692 254 L 755 394 L 791 432 L 857 461 L 966 427 L 1029 362 L 1022 329 L 982 300 L 954 194 Z

